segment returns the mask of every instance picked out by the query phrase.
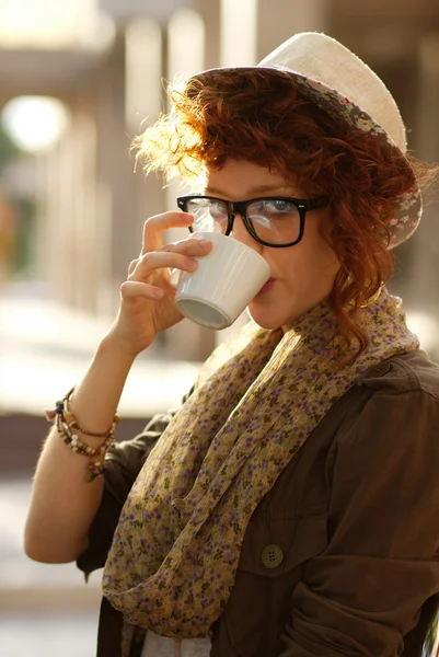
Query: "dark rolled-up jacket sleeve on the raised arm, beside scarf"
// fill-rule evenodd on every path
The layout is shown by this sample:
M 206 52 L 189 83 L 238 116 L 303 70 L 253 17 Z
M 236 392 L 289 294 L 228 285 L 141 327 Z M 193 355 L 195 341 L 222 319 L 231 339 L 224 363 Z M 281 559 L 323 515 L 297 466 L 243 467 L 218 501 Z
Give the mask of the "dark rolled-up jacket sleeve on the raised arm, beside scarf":
M 155 442 L 171 422 L 175 411 L 154 416 L 132 440 L 114 442 L 105 462 L 104 492 L 89 532 L 89 548 L 77 561 L 85 577 L 105 565 L 122 507 Z

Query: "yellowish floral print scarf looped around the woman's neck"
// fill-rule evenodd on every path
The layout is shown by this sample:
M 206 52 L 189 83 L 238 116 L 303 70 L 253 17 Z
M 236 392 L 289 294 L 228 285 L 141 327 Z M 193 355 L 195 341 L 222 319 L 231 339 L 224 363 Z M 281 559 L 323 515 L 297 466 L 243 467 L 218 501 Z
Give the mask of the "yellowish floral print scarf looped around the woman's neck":
M 360 321 L 370 342 L 350 365 L 340 365 L 327 302 L 285 333 L 251 323 L 213 353 L 120 515 L 103 589 L 126 622 L 178 639 L 207 635 L 261 499 L 369 367 L 418 348 L 385 289 Z

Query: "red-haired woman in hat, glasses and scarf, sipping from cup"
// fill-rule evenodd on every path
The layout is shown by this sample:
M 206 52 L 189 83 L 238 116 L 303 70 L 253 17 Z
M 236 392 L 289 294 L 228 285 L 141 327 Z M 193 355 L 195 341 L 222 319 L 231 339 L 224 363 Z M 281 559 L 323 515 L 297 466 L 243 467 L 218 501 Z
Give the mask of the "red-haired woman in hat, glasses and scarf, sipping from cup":
M 397 107 L 314 33 L 172 102 L 137 146 L 195 192 L 146 222 L 117 319 L 51 414 L 27 553 L 105 563 L 102 656 L 420 656 L 439 593 L 439 369 L 384 287 L 426 175 Z M 174 227 L 227 232 L 272 277 L 178 412 L 108 449 L 135 357 L 182 319 L 170 268 L 211 249 L 163 246 Z

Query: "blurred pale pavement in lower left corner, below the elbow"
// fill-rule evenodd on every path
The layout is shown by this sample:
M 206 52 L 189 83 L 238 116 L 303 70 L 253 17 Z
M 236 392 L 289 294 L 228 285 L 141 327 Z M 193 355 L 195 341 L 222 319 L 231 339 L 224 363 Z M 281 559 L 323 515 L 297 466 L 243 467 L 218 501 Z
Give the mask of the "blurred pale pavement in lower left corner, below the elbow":
M 0 482 L 0 657 L 94 657 L 101 573 L 23 552 L 31 477 Z

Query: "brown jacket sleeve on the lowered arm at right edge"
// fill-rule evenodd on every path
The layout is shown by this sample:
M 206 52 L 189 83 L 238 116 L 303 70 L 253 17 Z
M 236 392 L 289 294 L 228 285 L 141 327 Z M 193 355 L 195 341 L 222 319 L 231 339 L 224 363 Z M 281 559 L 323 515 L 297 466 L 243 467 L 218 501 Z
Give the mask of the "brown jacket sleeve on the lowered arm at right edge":
M 328 544 L 304 564 L 279 657 L 395 657 L 439 591 L 439 400 L 376 393 L 330 471 Z

